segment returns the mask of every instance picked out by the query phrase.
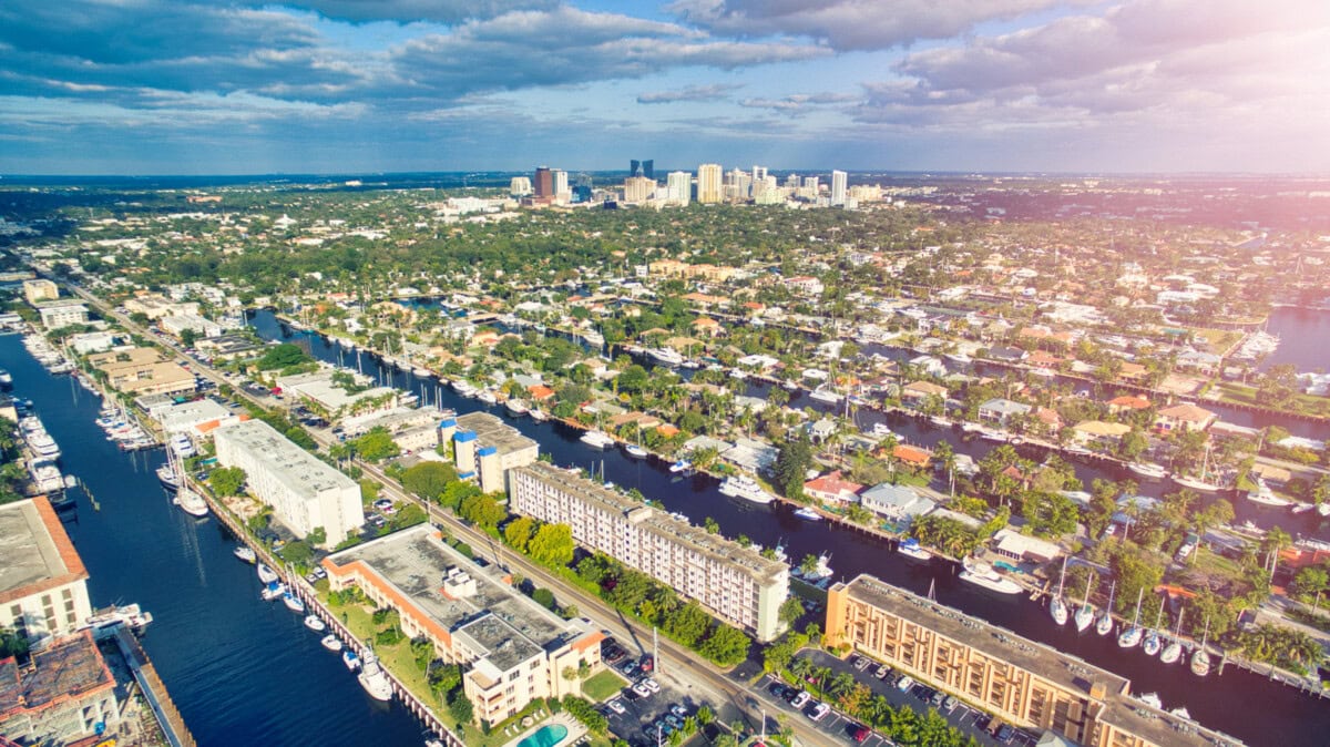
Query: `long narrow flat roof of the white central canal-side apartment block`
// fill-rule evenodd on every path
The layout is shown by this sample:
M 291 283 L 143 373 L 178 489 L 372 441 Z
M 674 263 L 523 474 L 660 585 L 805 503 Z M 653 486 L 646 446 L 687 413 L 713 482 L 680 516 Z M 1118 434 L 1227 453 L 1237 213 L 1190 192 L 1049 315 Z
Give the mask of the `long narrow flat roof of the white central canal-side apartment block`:
M 618 512 L 625 516 L 633 514 L 629 517 L 629 521 L 644 526 L 648 532 L 694 549 L 718 562 L 741 568 L 754 578 L 774 581 L 781 574 L 789 573 L 789 566 L 781 561 L 765 558 L 757 550 L 743 548 L 738 542 L 726 540 L 720 534 L 709 534 L 705 529 L 680 521 L 668 513 L 637 502 L 580 475 L 572 475 L 541 461 L 519 469 L 531 471 L 540 480 L 552 482 L 572 494 L 581 496 L 587 502 L 598 505 L 605 510 Z

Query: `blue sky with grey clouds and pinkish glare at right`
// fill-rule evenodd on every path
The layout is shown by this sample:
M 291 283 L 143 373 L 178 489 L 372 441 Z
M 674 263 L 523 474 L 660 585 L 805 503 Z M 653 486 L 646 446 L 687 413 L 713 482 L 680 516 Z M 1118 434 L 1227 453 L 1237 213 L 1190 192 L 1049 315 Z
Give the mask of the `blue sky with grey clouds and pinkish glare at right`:
M 0 174 L 1330 173 L 1330 0 L 4 0 Z

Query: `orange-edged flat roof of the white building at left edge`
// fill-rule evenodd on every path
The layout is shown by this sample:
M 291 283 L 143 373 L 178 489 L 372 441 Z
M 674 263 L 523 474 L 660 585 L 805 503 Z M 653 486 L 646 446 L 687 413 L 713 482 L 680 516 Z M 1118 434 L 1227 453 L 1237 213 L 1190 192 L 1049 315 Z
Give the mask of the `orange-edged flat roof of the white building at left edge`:
M 45 497 L 0 505 L 0 603 L 88 578 Z

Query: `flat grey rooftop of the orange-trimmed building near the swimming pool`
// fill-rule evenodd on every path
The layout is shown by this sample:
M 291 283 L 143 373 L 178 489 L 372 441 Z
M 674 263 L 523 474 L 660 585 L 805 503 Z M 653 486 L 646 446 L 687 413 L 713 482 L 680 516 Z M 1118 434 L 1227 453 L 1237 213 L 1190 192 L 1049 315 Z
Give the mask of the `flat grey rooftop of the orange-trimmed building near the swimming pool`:
M 584 633 L 513 589 L 499 566 L 481 568 L 444 544 L 428 524 L 334 553 L 323 562 L 335 568 L 360 562 L 372 584 L 396 591 L 450 635 L 466 635 L 500 671 Z M 466 572 L 475 593 L 448 595 L 443 581 L 450 569 Z

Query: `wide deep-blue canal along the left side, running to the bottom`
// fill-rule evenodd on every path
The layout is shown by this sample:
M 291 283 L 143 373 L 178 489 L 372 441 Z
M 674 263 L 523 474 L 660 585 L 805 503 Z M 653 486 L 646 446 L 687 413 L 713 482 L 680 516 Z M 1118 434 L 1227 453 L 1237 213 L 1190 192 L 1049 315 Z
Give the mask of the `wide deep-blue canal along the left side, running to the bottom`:
M 416 720 L 371 700 L 299 615 L 259 599 L 225 526 L 170 504 L 153 475 L 161 451 L 134 456 L 108 443 L 93 424 L 100 400 L 51 376 L 19 336 L 0 336 L 0 362 L 60 444 L 65 473 L 100 506 L 76 489 L 77 510 L 65 514 L 93 606 L 153 613 L 144 647 L 200 744 L 422 743 Z

